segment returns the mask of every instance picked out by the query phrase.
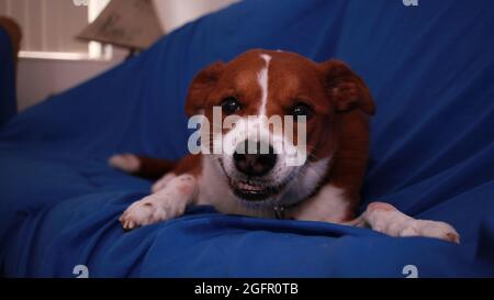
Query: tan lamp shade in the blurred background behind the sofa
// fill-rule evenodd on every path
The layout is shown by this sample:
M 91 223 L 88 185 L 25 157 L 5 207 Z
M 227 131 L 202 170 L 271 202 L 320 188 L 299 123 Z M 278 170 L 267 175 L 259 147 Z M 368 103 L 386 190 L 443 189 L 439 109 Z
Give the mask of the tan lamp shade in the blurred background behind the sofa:
M 145 49 L 164 34 L 151 0 L 112 0 L 77 37 Z

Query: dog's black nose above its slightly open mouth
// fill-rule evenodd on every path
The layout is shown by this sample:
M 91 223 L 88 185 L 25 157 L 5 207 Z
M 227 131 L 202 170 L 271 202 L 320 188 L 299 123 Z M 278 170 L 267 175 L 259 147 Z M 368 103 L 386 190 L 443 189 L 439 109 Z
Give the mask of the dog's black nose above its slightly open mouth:
M 248 154 L 249 142 L 244 142 L 238 145 L 234 153 L 235 167 L 238 171 L 247 176 L 263 176 L 268 174 L 277 164 L 277 155 L 271 145 L 262 144 L 261 142 L 255 143 L 255 154 Z

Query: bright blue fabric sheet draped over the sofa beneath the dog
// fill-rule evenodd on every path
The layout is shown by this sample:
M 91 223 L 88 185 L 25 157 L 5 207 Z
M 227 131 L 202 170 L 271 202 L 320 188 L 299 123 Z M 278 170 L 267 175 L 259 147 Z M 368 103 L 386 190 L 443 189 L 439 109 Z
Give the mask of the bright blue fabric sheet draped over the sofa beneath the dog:
M 171 33 L 101 77 L 23 112 L 0 132 L 1 269 L 7 276 L 494 276 L 494 2 L 249 0 Z M 109 155 L 186 153 L 193 75 L 262 47 L 346 60 L 379 109 L 364 205 L 383 200 L 447 221 L 460 246 L 317 222 L 194 208 L 124 233 L 149 182 Z

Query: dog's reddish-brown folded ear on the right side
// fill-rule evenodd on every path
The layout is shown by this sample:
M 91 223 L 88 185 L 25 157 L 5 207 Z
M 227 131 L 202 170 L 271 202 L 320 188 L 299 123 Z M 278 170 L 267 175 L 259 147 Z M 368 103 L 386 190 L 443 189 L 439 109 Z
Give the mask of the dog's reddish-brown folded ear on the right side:
M 332 59 L 319 65 L 327 93 L 337 113 L 359 109 L 372 115 L 375 113 L 374 102 L 363 80 L 345 63 Z

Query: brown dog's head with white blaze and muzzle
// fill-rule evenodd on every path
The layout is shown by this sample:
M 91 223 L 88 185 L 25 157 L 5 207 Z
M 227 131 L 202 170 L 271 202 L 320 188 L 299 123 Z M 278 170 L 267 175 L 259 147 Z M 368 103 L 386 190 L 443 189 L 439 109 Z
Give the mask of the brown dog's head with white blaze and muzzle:
M 215 110 L 221 120 L 213 120 Z M 209 120 L 203 126 L 207 141 L 201 142 L 209 149 L 221 145 L 222 152 L 211 158 L 236 198 L 271 205 L 296 202 L 315 191 L 338 146 L 337 119 L 350 111 L 373 114 L 374 104 L 347 65 L 260 49 L 202 70 L 186 103 L 189 116 Z M 277 120 L 282 132 L 272 123 Z

